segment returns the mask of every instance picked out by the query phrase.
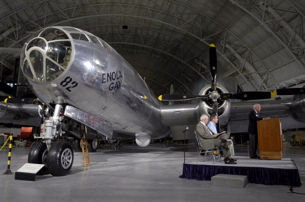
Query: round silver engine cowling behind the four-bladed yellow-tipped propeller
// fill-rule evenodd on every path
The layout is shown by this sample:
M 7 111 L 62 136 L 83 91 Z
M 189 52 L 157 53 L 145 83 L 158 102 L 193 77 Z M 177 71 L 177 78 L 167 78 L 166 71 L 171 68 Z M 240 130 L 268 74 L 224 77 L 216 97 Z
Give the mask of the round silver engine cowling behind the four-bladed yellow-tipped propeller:
M 217 85 L 216 89 L 219 94 L 222 92 L 229 93 L 228 90 L 221 85 Z M 211 86 L 206 85 L 200 90 L 199 95 L 207 95 L 211 91 L 212 91 Z M 220 127 L 225 127 L 227 126 L 230 117 L 230 107 L 231 107 L 230 99 L 226 99 L 226 100 L 217 99 L 217 101 L 218 101 L 218 118 L 219 118 Z M 211 99 L 204 101 L 198 99 L 198 103 L 201 114 L 209 114 L 209 115 L 213 114 L 213 102 L 211 101 Z

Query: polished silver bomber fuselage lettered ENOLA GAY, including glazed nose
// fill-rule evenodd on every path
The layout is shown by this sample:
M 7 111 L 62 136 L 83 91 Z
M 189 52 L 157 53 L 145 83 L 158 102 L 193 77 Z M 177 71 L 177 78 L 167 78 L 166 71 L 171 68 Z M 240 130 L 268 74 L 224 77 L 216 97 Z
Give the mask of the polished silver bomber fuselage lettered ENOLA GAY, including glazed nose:
M 24 44 L 20 66 L 45 104 L 67 104 L 112 124 L 113 131 L 162 138 L 161 102 L 106 42 L 73 27 L 40 30 Z

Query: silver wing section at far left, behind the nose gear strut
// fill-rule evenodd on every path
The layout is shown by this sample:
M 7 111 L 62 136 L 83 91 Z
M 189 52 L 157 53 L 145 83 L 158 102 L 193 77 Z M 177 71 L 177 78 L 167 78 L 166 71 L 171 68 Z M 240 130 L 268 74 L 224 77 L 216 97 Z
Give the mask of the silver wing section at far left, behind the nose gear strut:
M 0 102 L 0 123 L 40 126 L 41 115 L 39 104 Z

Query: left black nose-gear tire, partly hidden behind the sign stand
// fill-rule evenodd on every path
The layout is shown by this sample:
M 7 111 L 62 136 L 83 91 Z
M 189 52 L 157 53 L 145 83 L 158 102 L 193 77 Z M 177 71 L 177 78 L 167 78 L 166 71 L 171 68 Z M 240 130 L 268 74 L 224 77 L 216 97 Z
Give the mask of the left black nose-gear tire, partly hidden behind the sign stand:
M 27 157 L 28 163 L 34 164 L 46 164 L 46 157 L 48 154 L 47 145 L 42 141 L 35 142 L 30 149 L 29 155 Z M 48 171 L 47 166 L 43 166 L 36 175 L 47 175 L 50 172 Z

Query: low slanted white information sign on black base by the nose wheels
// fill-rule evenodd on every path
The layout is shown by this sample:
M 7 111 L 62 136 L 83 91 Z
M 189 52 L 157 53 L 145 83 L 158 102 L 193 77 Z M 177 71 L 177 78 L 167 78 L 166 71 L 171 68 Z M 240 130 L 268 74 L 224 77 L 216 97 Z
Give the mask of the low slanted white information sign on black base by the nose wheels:
M 15 179 L 35 181 L 36 173 L 44 164 L 26 163 L 15 172 Z

